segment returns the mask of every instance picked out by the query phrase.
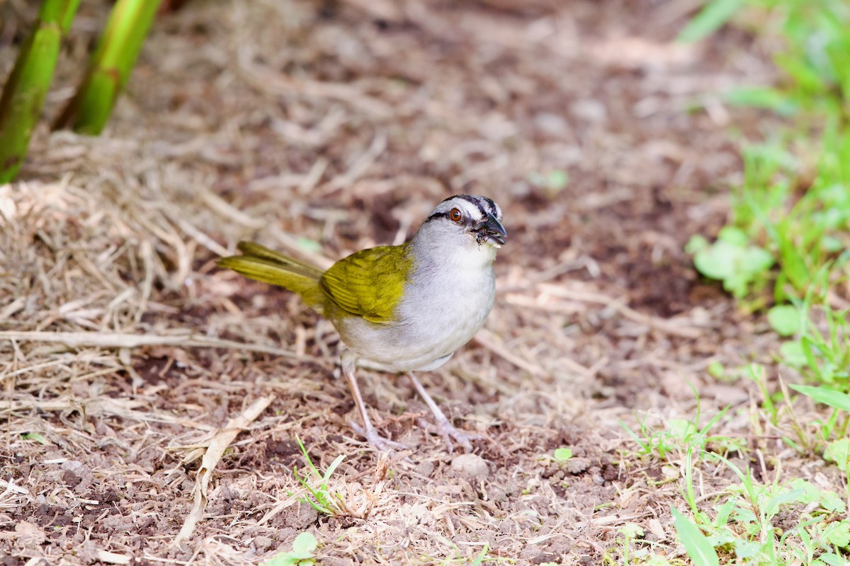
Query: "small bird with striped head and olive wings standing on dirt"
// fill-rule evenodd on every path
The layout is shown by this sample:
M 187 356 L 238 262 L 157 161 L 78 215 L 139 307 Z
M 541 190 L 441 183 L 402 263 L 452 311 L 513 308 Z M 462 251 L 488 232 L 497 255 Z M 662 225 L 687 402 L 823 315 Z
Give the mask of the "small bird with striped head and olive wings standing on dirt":
M 479 434 L 456 429 L 414 372 L 442 366 L 484 325 L 496 297 L 496 250 L 506 242 L 496 202 L 456 194 L 440 202 L 404 244 L 362 249 L 326 271 L 244 241 L 237 245 L 241 255 L 220 258 L 218 266 L 289 289 L 331 321 L 363 426 L 349 424 L 371 446 L 407 448 L 372 424 L 354 374 L 360 365 L 406 373 L 433 413 L 447 451 L 454 441 L 470 452 Z

